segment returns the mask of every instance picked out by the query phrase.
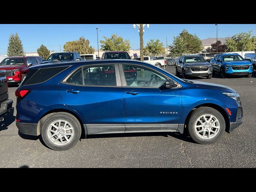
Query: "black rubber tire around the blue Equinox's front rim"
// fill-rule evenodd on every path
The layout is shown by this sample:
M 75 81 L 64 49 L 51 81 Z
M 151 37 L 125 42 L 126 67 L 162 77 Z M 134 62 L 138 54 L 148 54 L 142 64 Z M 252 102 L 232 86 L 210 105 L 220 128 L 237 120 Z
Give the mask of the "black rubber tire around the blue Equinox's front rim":
M 201 116 L 203 116 L 205 114 L 215 116 L 218 119 L 219 125 L 220 125 L 220 129 L 219 129 L 218 133 L 216 134 L 216 136 L 214 136 L 213 138 L 210 138 L 210 139 L 201 138 L 200 136 L 198 136 L 196 134 L 196 130 L 195 130 L 196 121 L 198 120 L 198 118 L 200 118 Z M 194 110 L 192 112 L 189 122 L 188 122 L 188 133 L 189 133 L 190 137 L 195 142 L 197 142 L 199 144 L 215 143 L 216 141 L 218 141 L 221 138 L 221 136 L 223 135 L 223 133 L 225 131 L 225 128 L 226 128 L 226 123 L 225 123 L 225 120 L 224 120 L 224 117 L 222 116 L 222 114 L 220 112 L 218 112 L 217 110 L 215 110 L 214 108 L 210 108 L 210 107 L 200 107 L 200 108 L 197 108 L 196 110 Z

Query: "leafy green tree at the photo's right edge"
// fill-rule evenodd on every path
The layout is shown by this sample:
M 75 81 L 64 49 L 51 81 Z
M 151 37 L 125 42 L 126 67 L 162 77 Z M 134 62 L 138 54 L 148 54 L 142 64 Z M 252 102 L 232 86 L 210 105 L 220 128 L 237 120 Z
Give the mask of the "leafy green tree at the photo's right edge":
M 252 36 L 252 30 L 235 34 L 226 40 L 227 51 L 252 51 L 256 50 L 256 36 Z

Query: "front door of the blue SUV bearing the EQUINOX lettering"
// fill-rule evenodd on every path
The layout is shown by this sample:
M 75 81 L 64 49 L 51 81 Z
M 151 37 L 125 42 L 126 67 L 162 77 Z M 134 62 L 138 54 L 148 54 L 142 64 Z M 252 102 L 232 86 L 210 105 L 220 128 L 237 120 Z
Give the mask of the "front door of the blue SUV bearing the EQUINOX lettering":
M 155 78 L 154 73 L 149 68 L 134 67 L 137 69 L 136 77 L 132 77 L 128 73 L 128 69 L 132 66 L 122 65 L 120 68 L 124 70 L 124 75 L 121 75 L 121 77 L 125 79 L 126 83 L 126 86 L 123 86 L 125 131 L 177 130 L 181 112 L 180 89 L 160 89 L 158 83 L 161 83 L 162 79 Z M 143 68 L 144 75 L 142 75 Z M 152 82 L 152 76 L 155 78 L 154 81 L 157 80 L 157 82 L 150 83 Z M 159 124 L 164 125 L 159 126 Z

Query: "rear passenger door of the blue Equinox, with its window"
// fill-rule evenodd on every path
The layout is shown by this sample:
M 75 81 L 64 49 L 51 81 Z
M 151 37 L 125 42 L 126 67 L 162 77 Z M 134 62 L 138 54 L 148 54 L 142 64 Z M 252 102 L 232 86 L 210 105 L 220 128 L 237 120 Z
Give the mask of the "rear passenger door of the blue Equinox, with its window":
M 98 70 L 96 67 L 84 67 L 82 70 L 84 81 L 81 79 L 81 70 L 77 70 L 78 79 L 76 79 L 76 72 L 74 72 L 74 76 L 68 77 L 66 82 L 59 84 L 62 102 L 69 108 L 76 110 L 84 118 L 85 122 L 83 123 L 87 126 L 88 134 L 124 132 L 124 94 L 122 87 L 94 85 L 104 82 L 104 80 L 113 83 L 109 81 L 110 79 L 100 79 L 100 77 L 107 75 L 113 78 L 115 74 L 113 68 L 107 73 L 104 68 L 105 66 L 102 67 L 103 70 Z M 86 74 L 86 72 L 90 72 L 90 74 Z M 111 76 L 108 74 L 110 72 Z M 82 82 L 86 85 L 83 86 Z

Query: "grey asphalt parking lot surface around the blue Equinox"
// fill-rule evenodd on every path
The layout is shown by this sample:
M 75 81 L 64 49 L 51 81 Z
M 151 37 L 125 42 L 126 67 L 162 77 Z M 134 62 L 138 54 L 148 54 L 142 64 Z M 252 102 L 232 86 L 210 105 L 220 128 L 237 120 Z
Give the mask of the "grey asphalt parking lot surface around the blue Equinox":
M 166 68 L 175 72 L 173 66 Z M 44 146 L 40 136 L 18 132 L 16 109 L 0 122 L 1 168 L 249 168 L 256 167 L 256 72 L 251 78 L 217 74 L 212 79 L 193 77 L 192 81 L 223 84 L 236 90 L 244 110 L 243 123 L 225 132 L 211 145 L 196 144 L 177 133 L 97 134 L 83 137 L 67 151 Z M 14 100 L 15 86 L 9 86 Z

